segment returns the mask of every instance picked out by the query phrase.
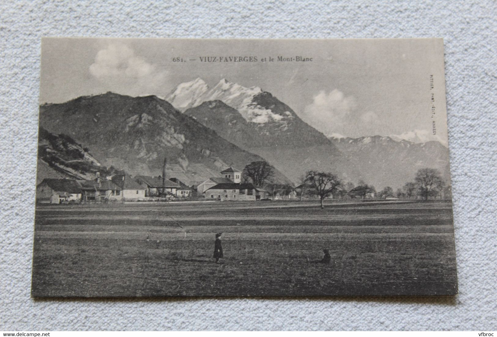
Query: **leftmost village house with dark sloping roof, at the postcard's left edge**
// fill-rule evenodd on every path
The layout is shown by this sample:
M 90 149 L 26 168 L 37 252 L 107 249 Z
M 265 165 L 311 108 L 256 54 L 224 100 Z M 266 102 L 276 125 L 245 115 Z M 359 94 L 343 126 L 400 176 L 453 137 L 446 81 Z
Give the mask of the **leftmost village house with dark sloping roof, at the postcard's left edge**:
M 36 186 L 36 202 L 59 204 L 65 201 L 80 201 L 83 191 L 74 179 L 45 178 Z

